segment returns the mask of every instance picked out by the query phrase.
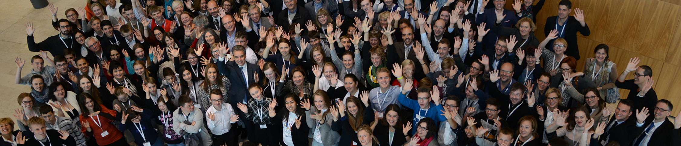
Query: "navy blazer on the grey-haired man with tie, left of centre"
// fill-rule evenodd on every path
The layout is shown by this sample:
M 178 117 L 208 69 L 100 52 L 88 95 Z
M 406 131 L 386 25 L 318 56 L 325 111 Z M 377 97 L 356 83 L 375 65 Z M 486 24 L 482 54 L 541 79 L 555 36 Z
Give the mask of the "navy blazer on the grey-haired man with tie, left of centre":
M 246 98 L 246 101 L 253 98 L 251 97 L 251 94 L 249 94 L 248 90 L 249 85 L 255 83 L 255 80 L 253 79 L 253 73 L 257 73 L 259 79 L 264 79 L 265 77 L 265 74 L 262 73 L 258 65 L 246 62 L 246 67 L 248 70 L 248 75 L 246 75 L 246 77 L 248 77 L 249 81 L 246 83 L 244 80 L 244 74 L 241 72 L 239 65 L 237 65 L 235 61 L 229 61 L 226 63 L 224 61 L 218 61 L 216 64 L 220 73 L 227 77 L 232 84 L 232 86 L 229 88 L 229 104 L 234 108 L 236 108 L 236 103 L 242 103 L 244 101 L 244 97 Z

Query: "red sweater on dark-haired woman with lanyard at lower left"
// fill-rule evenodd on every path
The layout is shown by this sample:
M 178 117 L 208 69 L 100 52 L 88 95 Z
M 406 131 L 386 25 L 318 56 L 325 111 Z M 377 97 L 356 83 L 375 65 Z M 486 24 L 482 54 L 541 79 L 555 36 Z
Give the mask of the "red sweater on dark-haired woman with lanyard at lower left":
M 101 107 L 100 113 L 108 113 L 112 116 L 116 116 L 116 111 L 113 111 L 111 109 L 107 109 L 104 107 L 104 105 L 99 105 Z M 102 117 L 101 115 L 97 115 L 99 117 L 99 122 L 101 122 L 101 128 L 95 124 L 97 122 L 97 117 L 90 117 L 90 116 L 83 116 L 80 114 L 80 121 L 81 122 L 89 122 L 90 128 L 92 129 L 93 135 L 95 136 L 95 140 L 97 140 L 97 145 L 109 145 L 111 143 L 114 143 L 118 141 L 118 139 L 123 138 L 123 134 L 121 134 L 121 131 L 119 131 L 114 125 L 112 125 L 110 122 L 112 120 L 107 119 L 106 117 Z M 82 124 L 81 132 L 86 132 L 87 128 L 85 128 L 85 124 Z M 102 132 L 108 132 L 109 134 L 106 135 L 106 137 L 102 137 L 101 133 Z M 87 134 L 85 134 L 87 136 Z

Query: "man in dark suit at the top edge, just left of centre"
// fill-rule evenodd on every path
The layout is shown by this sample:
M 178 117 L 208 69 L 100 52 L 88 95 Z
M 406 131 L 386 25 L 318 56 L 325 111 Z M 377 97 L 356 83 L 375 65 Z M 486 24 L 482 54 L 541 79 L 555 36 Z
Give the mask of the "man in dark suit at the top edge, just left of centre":
M 286 10 L 279 12 L 279 20 L 276 21 L 276 26 L 288 27 L 292 23 L 305 24 L 307 20 L 313 20 L 307 9 L 298 8 L 298 1 L 284 0 L 284 4 Z

